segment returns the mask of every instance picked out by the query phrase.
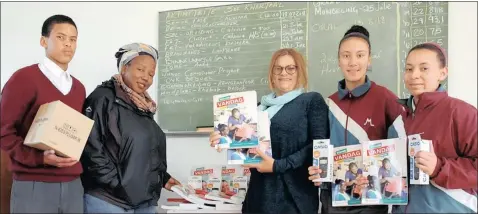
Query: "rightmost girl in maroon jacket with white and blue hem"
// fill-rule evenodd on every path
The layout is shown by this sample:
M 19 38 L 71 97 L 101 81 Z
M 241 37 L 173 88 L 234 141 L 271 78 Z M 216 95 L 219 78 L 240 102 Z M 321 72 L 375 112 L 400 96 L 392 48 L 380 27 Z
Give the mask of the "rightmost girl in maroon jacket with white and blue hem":
M 415 154 L 430 184 L 410 185 L 408 205 L 394 207 L 394 213 L 477 212 L 477 110 L 448 96 L 440 85 L 447 75 L 439 45 L 424 43 L 409 51 L 404 80 L 411 96 L 399 102 L 406 108 L 407 134 L 432 141 L 430 152 Z

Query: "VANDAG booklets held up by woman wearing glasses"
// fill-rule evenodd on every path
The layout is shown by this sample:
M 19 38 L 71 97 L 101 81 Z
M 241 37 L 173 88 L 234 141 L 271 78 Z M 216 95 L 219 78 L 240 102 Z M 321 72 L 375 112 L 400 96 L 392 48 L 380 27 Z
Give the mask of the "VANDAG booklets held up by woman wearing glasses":
M 213 96 L 214 130 L 221 134 L 217 147 L 227 149 L 228 164 L 259 163 L 256 149 L 272 156 L 270 120 L 257 108 L 255 91 Z

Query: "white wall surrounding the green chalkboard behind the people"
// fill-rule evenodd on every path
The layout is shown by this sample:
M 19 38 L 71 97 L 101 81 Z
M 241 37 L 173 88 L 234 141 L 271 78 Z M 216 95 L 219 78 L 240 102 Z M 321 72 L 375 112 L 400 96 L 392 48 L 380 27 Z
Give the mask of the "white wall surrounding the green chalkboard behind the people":
M 114 53 L 120 46 L 130 42 L 158 46 L 159 11 L 233 3 L 239 2 L 2 2 L 1 87 L 15 70 L 44 56 L 41 25 L 53 14 L 71 16 L 78 25 L 78 49 L 70 67 L 90 93 L 116 73 Z M 450 2 L 448 28 L 449 93 L 476 107 L 476 2 Z M 150 89 L 155 99 L 156 84 Z M 169 136 L 167 153 L 169 171 L 179 179 L 186 178 L 192 163 L 212 164 L 225 158 L 209 149 L 206 137 Z

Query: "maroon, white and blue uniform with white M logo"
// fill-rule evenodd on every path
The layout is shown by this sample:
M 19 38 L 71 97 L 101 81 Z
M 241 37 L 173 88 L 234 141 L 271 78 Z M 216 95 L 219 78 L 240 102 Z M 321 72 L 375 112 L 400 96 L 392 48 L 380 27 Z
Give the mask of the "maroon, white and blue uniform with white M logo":
M 387 88 L 370 81 L 349 91 L 345 80 L 327 99 L 329 106 L 330 143 L 334 148 L 360 144 L 360 141 L 405 137 L 401 114 L 404 108 L 398 97 Z M 322 213 L 387 213 L 388 206 L 332 207 L 329 183 L 321 185 Z

